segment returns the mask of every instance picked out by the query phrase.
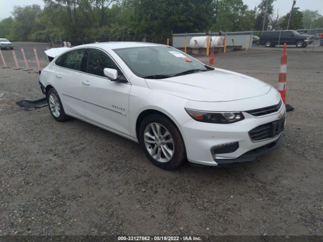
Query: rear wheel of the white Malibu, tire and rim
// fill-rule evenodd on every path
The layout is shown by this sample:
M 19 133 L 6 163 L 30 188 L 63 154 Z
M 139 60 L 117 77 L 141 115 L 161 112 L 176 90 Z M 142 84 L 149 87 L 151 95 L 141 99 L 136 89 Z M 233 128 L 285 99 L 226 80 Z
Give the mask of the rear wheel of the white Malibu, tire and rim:
M 61 98 L 54 88 L 49 89 L 46 97 L 49 111 L 55 120 L 58 122 L 64 122 L 70 118 L 68 115 L 66 115 Z

